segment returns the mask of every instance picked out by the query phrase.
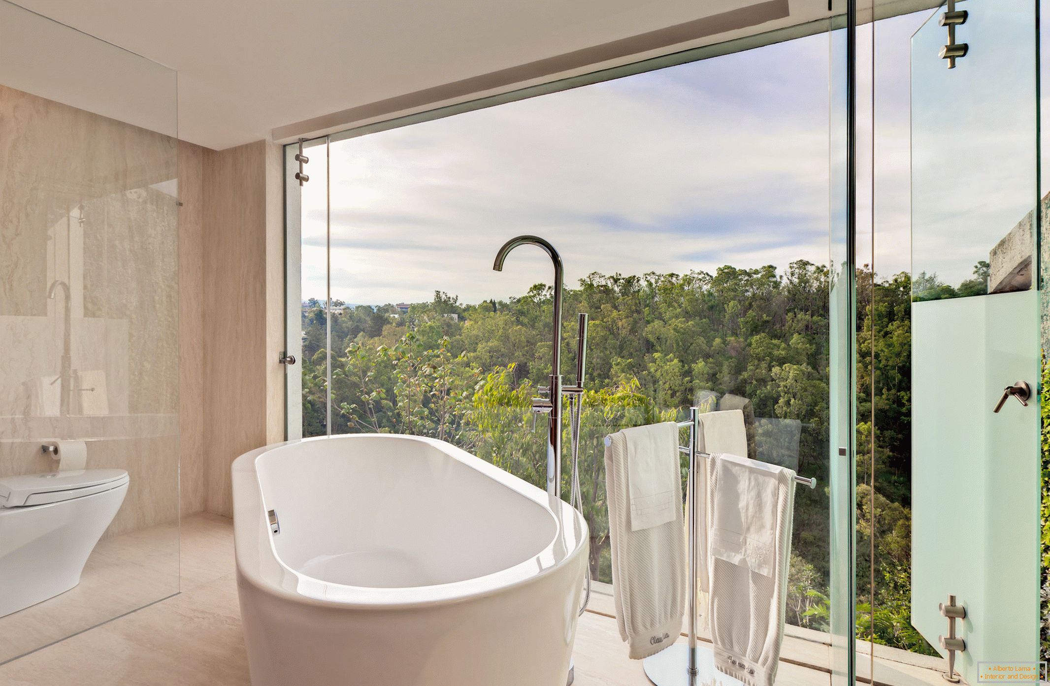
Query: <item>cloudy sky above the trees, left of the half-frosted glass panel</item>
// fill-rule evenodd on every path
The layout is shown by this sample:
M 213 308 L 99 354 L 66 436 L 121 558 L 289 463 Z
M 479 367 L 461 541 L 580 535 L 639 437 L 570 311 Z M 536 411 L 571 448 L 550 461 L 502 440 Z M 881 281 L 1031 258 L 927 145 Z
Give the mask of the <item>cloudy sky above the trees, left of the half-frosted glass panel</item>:
M 859 161 L 859 262 L 884 276 L 910 268 L 909 59 L 927 14 L 875 29 L 878 127 L 874 167 L 869 153 Z M 862 33 L 862 56 L 870 40 Z M 435 290 L 477 303 L 550 283 L 538 248 L 492 271 L 499 247 L 522 233 L 554 245 L 569 287 L 592 271 L 826 264 L 830 48 L 820 34 L 335 142 L 331 179 L 311 164 L 302 191 L 302 297 L 324 296 L 329 216 L 332 296 L 353 304 L 428 300 Z M 936 56 L 931 64 L 942 68 Z M 860 91 L 872 83 L 868 59 Z M 870 136 L 866 107 L 861 136 Z M 323 147 L 310 155 L 323 163 Z M 873 173 L 874 215 L 863 191 Z M 931 247 L 945 256 L 931 265 L 961 279 L 990 246 L 956 238 Z

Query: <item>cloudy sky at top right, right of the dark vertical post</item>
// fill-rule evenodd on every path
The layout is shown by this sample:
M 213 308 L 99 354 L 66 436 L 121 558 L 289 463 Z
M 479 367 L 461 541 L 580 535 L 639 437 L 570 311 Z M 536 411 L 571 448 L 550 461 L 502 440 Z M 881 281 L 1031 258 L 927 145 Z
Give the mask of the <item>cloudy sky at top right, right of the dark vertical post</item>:
M 958 286 L 1034 205 L 1032 5 L 999 8 L 957 29 L 970 53 L 950 70 L 945 29 L 928 20 L 939 12 L 860 28 L 858 262 L 883 276 L 914 269 Z

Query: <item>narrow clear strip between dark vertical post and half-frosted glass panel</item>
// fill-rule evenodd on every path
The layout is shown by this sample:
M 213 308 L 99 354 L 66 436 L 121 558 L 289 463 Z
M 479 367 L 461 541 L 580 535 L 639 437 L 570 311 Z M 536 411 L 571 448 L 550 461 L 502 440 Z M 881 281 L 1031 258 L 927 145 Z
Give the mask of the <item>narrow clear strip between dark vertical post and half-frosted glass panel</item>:
M 859 120 L 870 126 L 858 184 L 869 203 L 859 222 L 870 227 L 870 242 L 857 312 L 857 666 L 886 684 L 907 683 L 908 668 L 940 679 L 945 666 L 911 617 L 909 42 L 929 14 L 865 24 L 859 56 L 859 89 L 867 96 Z

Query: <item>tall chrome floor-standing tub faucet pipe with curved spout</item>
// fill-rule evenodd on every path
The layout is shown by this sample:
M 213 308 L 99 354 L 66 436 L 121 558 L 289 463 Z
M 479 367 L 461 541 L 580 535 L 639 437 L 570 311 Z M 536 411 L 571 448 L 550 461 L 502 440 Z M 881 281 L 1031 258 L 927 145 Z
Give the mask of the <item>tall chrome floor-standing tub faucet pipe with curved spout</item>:
M 562 290 L 564 288 L 564 268 L 562 256 L 554 246 L 538 235 L 520 235 L 503 244 L 496 253 L 492 269 L 503 271 L 503 262 L 511 250 L 518 246 L 537 246 L 543 248 L 550 261 L 554 263 L 553 321 L 550 337 L 550 386 L 548 398 L 536 398 L 532 409 L 545 412 L 548 421 L 547 434 L 547 494 L 553 498 L 562 496 Z

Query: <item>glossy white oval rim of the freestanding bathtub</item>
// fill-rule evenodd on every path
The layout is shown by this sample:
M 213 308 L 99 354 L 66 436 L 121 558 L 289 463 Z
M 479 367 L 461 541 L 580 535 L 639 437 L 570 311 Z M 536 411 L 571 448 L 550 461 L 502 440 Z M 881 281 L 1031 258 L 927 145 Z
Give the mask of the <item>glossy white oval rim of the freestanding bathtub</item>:
M 554 533 L 550 542 L 536 555 L 511 567 L 472 579 L 430 586 L 387 588 L 351 586 L 316 579 L 291 568 L 277 555 L 269 531 L 266 503 L 256 470 L 258 458 L 271 451 L 299 443 L 365 437 L 410 440 L 434 445 L 449 459 L 458 460 L 503 487 L 516 492 L 518 496 L 527 498 L 543 508 L 553 521 Z M 237 457 L 231 465 L 231 477 L 234 557 L 238 585 L 249 583 L 264 593 L 292 602 L 376 610 L 433 607 L 484 598 L 534 583 L 572 564 L 581 557 L 586 558 L 585 550 L 590 532 L 583 515 L 575 508 L 563 500 L 558 500 L 552 507 L 545 491 L 447 441 L 435 438 L 407 434 L 337 434 L 271 443 Z M 252 523 L 248 523 L 249 521 Z M 562 549 L 559 549 L 559 543 Z M 548 562 L 541 568 L 534 569 L 541 557 L 546 558 Z M 585 559 L 584 564 L 586 563 Z

